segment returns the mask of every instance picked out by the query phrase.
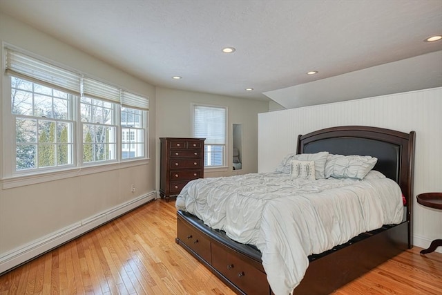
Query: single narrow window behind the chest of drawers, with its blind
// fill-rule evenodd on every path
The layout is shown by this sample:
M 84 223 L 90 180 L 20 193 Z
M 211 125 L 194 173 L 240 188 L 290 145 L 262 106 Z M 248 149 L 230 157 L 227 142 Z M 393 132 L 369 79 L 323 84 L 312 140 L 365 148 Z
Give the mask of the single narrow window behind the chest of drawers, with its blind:
M 193 136 L 205 138 L 204 166 L 225 166 L 227 108 L 193 105 Z

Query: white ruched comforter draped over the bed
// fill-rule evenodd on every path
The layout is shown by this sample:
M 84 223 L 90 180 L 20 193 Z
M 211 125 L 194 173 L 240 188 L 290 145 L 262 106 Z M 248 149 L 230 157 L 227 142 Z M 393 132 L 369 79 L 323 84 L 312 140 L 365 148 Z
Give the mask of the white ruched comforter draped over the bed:
M 176 207 L 233 240 L 256 245 L 272 291 L 287 295 L 302 280 L 310 254 L 401 222 L 401 189 L 393 180 L 369 175 L 365 180 L 292 180 L 285 173 L 202 178 L 186 184 Z

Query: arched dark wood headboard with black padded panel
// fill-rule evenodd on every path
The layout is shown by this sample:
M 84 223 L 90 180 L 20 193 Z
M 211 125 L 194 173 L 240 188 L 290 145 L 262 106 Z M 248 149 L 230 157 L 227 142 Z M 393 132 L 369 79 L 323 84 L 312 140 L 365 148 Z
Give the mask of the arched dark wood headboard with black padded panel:
M 370 126 L 338 126 L 299 135 L 297 153 L 328 151 L 339 155 L 371 155 L 378 158 L 374 170 L 396 181 L 407 200 L 407 221 L 412 233 L 415 137 L 414 131 L 403 133 Z

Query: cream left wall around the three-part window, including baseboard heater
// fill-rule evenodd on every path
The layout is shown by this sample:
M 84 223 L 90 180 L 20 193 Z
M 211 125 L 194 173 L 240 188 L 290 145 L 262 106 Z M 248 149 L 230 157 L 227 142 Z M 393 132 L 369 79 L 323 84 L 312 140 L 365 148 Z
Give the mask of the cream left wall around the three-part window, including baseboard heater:
M 81 169 L 70 178 L 8 189 L 4 186 L 5 180 L 0 180 L 1 273 L 81 234 L 82 230 L 154 198 L 156 136 L 153 86 L 3 14 L 0 15 L 0 41 L 145 95 L 150 98 L 151 106 L 149 161 L 99 173 L 88 174 Z M 3 73 L 0 77 L 1 85 L 8 82 Z M 4 92 L 2 87 L 0 106 L 4 99 L 10 99 Z M 7 133 L 9 128 L 3 120 L 0 122 L 2 132 Z M 135 193 L 130 191 L 131 184 L 135 184 Z

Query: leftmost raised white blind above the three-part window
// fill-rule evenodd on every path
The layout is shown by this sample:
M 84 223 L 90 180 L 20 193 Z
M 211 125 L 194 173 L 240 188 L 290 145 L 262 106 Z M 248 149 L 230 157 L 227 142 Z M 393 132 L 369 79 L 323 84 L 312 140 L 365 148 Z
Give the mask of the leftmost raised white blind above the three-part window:
M 48 64 L 46 61 L 10 48 L 6 48 L 6 73 L 73 95 L 80 93 L 78 73 Z

